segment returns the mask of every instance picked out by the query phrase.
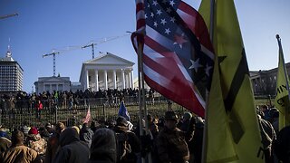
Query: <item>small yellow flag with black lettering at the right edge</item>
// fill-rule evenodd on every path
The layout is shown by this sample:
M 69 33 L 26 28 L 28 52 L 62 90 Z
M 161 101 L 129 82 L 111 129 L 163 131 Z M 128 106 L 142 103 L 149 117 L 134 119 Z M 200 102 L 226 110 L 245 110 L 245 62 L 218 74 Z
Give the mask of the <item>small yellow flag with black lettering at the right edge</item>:
M 277 72 L 277 85 L 275 96 L 275 107 L 279 112 L 279 129 L 284 128 L 290 124 L 290 112 L 289 112 L 289 78 L 285 68 L 284 54 L 282 49 L 282 43 L 279 35 L 276 35 L 279 45 L 279 65 Z

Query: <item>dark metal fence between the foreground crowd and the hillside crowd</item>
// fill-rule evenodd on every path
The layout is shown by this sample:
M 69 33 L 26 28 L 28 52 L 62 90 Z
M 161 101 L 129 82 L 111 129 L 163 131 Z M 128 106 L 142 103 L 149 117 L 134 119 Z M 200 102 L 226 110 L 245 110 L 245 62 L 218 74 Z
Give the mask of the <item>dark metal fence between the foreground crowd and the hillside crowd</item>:
M 46 122 L 56 123 L 57 121 L 63 121 L 67 126 L 73 126 L 82 124 L 88 108 L 90 108 L 92 120 L 106 121 L 115 120 L 120 109 L 120 101 L 112 102 L 103 99 L 84 99 L 79 104 L 74 104 L 72 109 L 69 109 L 69 105 L 64 107 L 62 101 L 58 101 L 58 103 L 57 105 L 43 107 L 43 110 L 40 111 L 33 107 L 2 110 L 0 124 L 9 128 L 18 128 L 25 123 L 30 126 L 40 127 Z M 130 113 L 131 122 L 136 124 L 140 113 L 138 101 L 125 101 L 125 106 Z M 164 112 L 171 108 L 179 114 L 184 111 L 178 104 L 161 98 L 146 101 L 146 107 L 148 112 L 156 118 L 161 118 Z

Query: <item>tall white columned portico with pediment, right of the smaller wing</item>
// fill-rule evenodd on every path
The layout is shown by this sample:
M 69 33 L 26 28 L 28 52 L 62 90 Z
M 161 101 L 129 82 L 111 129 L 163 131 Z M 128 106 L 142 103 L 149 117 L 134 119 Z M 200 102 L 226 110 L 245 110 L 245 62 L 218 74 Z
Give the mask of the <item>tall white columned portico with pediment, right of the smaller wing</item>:
M 83 90 L 133 89 L 134 62 L 112 53 L 82 63 L 80 82 Z

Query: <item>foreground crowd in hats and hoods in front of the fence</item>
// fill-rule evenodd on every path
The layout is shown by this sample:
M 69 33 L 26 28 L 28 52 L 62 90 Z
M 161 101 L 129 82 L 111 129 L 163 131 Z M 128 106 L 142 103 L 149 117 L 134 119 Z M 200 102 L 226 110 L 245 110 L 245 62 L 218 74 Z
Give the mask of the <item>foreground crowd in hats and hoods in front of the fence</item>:
M 266 163 L 290 162 L 290 127 L 278 129 L 279 111 L 257 108 Z M 146 119 L 146 120 L 145 120 Z M 204 120 L 168 110 L 162 119 L 147 115 L 135 126 L 125 117 L 63 122 L 41 127 L 0 128 L 0 162 L 201 162 Z M 145 121 L 148 122 L 147 129 Z

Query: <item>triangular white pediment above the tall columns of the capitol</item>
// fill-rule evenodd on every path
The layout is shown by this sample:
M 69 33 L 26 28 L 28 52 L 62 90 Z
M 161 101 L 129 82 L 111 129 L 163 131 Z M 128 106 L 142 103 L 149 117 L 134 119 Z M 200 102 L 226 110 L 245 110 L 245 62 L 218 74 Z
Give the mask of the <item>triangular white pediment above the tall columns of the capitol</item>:
M 130 62 L 128 60 L 125 60 L 117 55 L 114 55 L 112 53 L 105 53 L 101 56 L 94 58 L 92 60 L 89 60 L 87 62 L 83 62 L 84 64 L 99 64 L 99 65 L 128 65 L 132 66 L 135 63 Z

